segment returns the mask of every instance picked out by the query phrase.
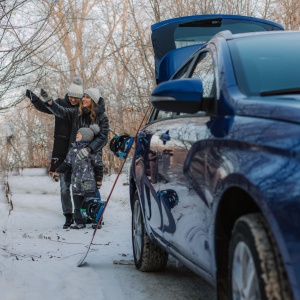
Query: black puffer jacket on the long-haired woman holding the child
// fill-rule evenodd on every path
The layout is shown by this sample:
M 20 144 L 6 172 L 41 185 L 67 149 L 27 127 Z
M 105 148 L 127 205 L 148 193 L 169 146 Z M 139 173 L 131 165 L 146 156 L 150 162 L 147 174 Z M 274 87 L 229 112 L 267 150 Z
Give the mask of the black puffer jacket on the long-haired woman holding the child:
M 47 107 L 57 117 L 63 118 L 71 122 L 72 130 L 69 141 L 70 148 L 72 147 L 72 143 L 75 142 L 78 129 L 81 127 L 89 127 L 91 125 L 89 113 L 83 113 L 82 115 L 80 115 L 78 107 L 63 107 L 59 105 L 56 101 L 53 101 L 52 105 L 47 104 Z M 109 123 L 108 118 L 104 112 L 105 106 L 104 101 L 102 101 L 96 108 L 96 117 L 94 121 L 95 124 L 99 125 L 100 132 L 95 136 L 94 140 L 87 145 L 87 147 L 89 147 L 92 150 L 92 153 L 101 151 L 107 143 Z

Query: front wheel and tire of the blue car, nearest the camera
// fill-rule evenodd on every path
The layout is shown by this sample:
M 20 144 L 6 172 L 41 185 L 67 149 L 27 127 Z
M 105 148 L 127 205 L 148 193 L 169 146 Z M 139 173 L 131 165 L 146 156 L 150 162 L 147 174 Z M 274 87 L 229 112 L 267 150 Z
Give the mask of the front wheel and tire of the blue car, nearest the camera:
M 240 217 L 229 247 L 230 299 L 293 299 L 280 254 L 260 214 Z

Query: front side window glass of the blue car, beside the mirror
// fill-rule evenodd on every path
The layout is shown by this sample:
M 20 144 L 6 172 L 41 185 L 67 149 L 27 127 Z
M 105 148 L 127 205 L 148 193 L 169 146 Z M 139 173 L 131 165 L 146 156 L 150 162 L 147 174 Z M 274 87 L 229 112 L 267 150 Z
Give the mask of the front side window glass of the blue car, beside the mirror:
M 213 60 L 210 52 L 203 52 L 191 75 L 192 78 L 199 78 L 203 85 L 203 98 L 212 98 L 215 95 L 215 76 Z

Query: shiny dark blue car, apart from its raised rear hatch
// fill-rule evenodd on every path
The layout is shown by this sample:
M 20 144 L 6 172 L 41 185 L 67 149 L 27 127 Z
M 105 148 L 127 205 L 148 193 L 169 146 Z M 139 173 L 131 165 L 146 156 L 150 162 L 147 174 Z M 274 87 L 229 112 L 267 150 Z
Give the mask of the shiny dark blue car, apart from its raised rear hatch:
M 172 255 L 218 299 L 300 299 L 299 49 L 299 31 L 224 30 L 158 83 L 131 168 L 137 269 Z

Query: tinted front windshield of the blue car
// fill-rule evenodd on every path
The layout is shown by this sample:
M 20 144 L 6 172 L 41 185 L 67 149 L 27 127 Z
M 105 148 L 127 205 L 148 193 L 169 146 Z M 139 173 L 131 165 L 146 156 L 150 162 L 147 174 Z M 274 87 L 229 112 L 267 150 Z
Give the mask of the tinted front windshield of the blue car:
M 247 95 L 300 94 L 300 33 L 228 41 L 237 84 Z

